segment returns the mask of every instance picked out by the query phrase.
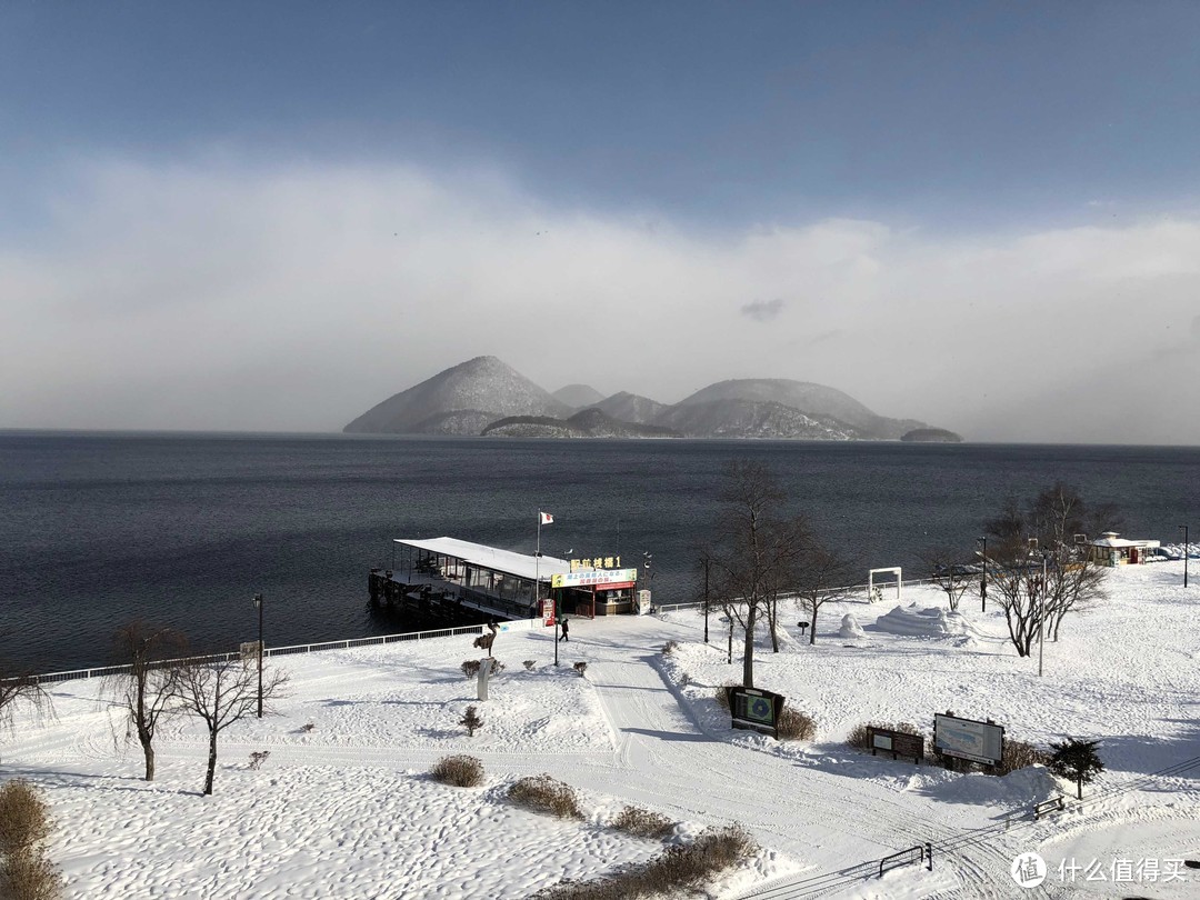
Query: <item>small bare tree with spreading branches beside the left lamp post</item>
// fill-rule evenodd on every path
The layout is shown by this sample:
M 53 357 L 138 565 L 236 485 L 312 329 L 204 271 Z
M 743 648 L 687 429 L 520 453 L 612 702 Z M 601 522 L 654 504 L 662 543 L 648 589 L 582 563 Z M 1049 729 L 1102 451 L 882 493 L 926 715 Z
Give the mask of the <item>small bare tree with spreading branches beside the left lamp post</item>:
M 179 696 L 184 708 L 198 715 L 209 730 L 209 767 L 204 793 L 212 793 L 217 768 L 217 736 L 236 721 L 254 715 L 258 704 L 258 660 L 236 656 L 203 661 L 188 660 L 179 670 Z M 278 700 L 288 677 L 280 671 L 263 672 L 263 700 Z

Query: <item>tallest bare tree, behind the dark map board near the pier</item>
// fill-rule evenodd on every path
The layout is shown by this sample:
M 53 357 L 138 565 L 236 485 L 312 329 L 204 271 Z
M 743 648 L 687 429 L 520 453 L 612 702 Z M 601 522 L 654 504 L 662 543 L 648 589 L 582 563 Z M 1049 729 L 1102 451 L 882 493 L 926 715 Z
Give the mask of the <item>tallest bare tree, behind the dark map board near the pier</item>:
M 758 618 L 767 614 L 774 620 L 775 604 L 794 575 L 808 524 L 800 517 L 784 520 L 778 516 L 786 494 L 762 463 L 734 460 L 725 479 L 720 492 L 724 511 L 716 522 L 712 571 L 726 614 L 736 619 L 745 634 L 742 683 L 752 688 Z

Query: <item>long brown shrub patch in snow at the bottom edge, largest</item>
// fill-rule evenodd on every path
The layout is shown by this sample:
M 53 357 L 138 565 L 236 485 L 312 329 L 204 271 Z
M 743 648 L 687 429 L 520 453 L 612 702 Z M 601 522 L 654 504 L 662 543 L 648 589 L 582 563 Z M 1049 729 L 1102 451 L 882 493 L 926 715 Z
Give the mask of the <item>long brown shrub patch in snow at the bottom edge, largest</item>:
M 536 900 L 626 900 L 632 896 L 682 896 L 702 890 L 713 877 L 758 851 L 738 824 L 709 829 L 692 844 L 667 847 L 646 863 L 586 882 L 560 882 L 539 890 Z

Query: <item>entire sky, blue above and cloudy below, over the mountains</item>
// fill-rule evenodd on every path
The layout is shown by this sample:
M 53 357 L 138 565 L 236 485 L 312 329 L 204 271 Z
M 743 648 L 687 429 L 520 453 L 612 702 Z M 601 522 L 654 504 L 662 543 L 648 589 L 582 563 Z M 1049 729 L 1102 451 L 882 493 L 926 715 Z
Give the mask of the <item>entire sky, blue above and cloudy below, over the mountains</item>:
M 0 427 L 478 355 L 1200 444 L 1200 5 L 0 0 Z

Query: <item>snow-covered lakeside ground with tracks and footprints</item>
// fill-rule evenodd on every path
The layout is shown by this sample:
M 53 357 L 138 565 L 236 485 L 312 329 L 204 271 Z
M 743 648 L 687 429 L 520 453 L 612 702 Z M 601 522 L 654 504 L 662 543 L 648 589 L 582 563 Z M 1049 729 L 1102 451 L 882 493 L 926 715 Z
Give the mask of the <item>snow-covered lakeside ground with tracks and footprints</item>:
M 506 671 L 486 702 L 460 671 L 478 656 L 466 637 L 280 658 L 289 696 L 222 734 L 212 797 L 199 794 L 196 721 L 162 731 L 158 778 L 145 784 L 101 685 L 65 683 L 54 719 L 22 718 L 0 739 L 0 778 L 44 788 L 58 821 L 50 857 L 66 895 L 89 900 L 522 898 L 658 853 L 661 842 L 606 827 L 626 803 L 678 821 L 668 840 L 728 822 L 755 834 L 760 854 L 713 896 L 1200 896 L 1200 871 L 1182 865 L 1200 858 L 1200 570 L 1184 593 L 1182 566 L 1112 570 L 1108 600 L 1046 644 L 1042 678 L 977 596 L 959 616 L 922 612 L 944 607 L 932 588 L 907 589 L 900 612 L 829 605 L 815 646 L 790 612 L 780 652 L 760 646 L 755 682 L 816 719 L 811 744 L 731 731 L 713 694 L 740 674 L 738 643 L 730 666 L 721 623 L 709 622 L 706 646 L 702 617 L 677 611 L 572 619 L 557 670 L 548 632 L 503 634 Z M 667 641 L 679 646 L 664 655 Z M 485 724 L 468 738 L 457 722 L 472 703 Z M 961 775 L 842 743 L 866 721 L 929 730 L 946 710 L 1036 744 L 1099 738 L 1108 770 L 1082 804 L 1033 822 L 1033 803 L 1072 798 L 1073 786 L 1044 769 Z M 252 770 L 258 750 L 270 757 Z M 431 780 L 449 752 L 480 757 L 486 784 Z M 578 788 L 582 822 L 505 799 L 515 779 L 542 772 Z M 925 842 L 931 871 L 845 874 Z M 1032 852 L 1049 874 L 1022 888 L 1010 866 Z

